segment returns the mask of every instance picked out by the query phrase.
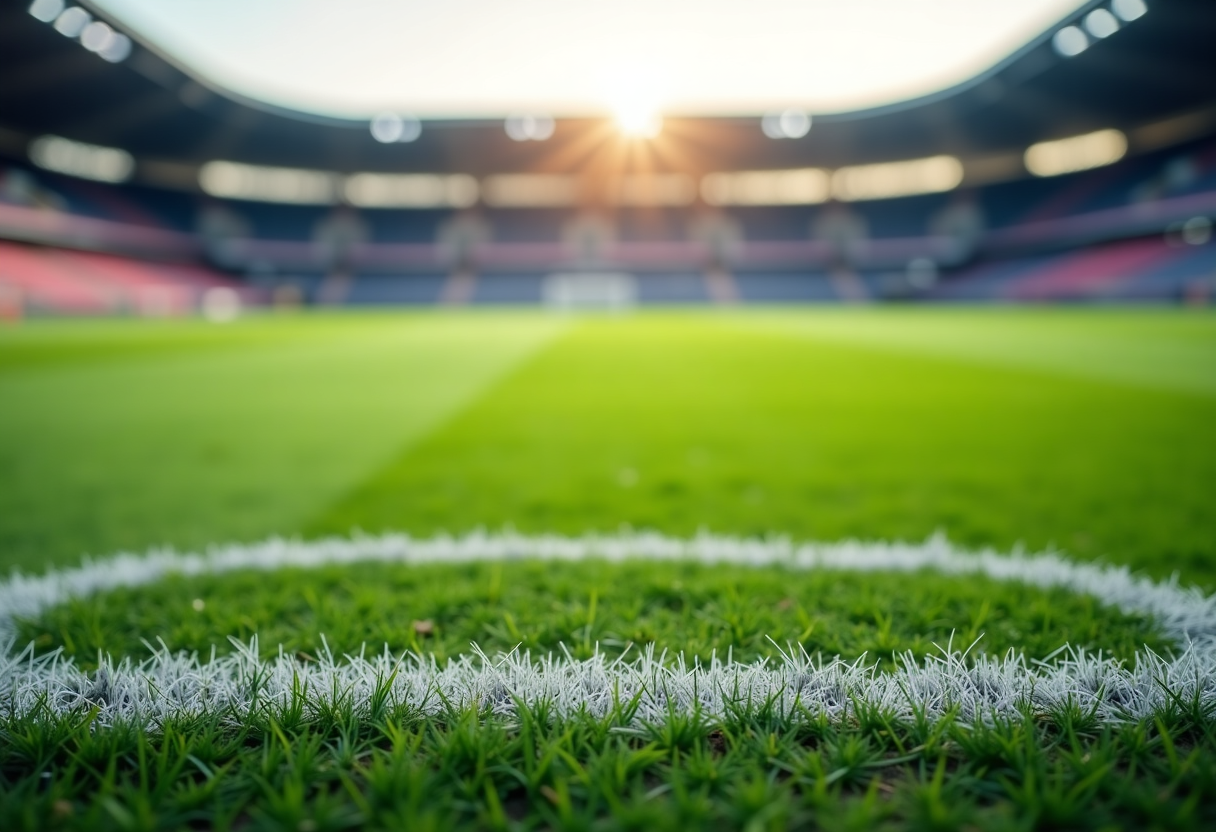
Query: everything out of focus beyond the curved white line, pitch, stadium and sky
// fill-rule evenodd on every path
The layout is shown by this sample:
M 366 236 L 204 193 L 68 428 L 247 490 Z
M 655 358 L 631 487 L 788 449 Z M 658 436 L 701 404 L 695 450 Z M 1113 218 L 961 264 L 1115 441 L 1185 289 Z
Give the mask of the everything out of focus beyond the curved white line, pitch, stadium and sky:
M 1212 44 L 1210 0 L 0 0 L 0 567 L 627 524 L 1216 585 Z

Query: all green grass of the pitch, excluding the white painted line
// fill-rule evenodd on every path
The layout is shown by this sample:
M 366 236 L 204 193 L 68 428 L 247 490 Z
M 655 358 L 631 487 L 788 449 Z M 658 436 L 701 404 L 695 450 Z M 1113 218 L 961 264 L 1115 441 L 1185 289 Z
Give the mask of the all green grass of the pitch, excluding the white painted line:
M 32 321 L 0 328 L 0 567 L 355 530 L 942 532 L 1211 592 L 1214 427 L 1203 313 Z M 174 577 L 19 629 L 85 668 L 254 634 L 305 662 L 322 635 L 439 660 L 472 642 L 741 660 L 796 643 L 884 668 L 952 634 L 1028 659 L 1172 648 L 1152 620 L 1017 583 L 595 561 Z M 1216 720 L 1186 705 L 989 727 L 350 707 L 143 732 L 10 714 L 0 827 L 1201 828 Z

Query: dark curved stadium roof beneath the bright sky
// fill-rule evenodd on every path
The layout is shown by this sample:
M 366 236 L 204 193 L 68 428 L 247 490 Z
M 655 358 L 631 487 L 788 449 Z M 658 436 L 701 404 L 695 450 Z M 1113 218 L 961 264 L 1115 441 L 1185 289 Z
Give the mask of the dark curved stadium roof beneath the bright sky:
M 602 117 L 558 118 L 546 141 L 513 140 L 501 117 L 423 119 L 421 135 L 402 136 L 416 141 L 378 142 L 367 118 L 302 112 L 229 89 L 98 0 L 77 2 L 68 26 L 62 15 L 75 7 L 71 1 L 0 0 L 0 154 L 23 157 L 41 135 L 66 136 L 129 152 L 136 179 L 190 189 L 198 165 L 214 159 L 486 175 L 636 164 L 688 173 L 835 168 L 950 153 L 966 163 L 964 181 L 983 181 L 1025 175 L 1023 152 L 1045 139 L 1116 128 L 1128 152 L 1138 152 L 1216 130 L 1216 4 L 1204 0 L 1087 2 L 953 86 L 815 112 L 809 133 L 793 140 L 766 135 L 755 114 L 686 116 L 669 117 L 659 139 L 632 151 Z M 1125 15 L 1145 2 L 1147 13 Z M 97 28 L 75 30 L 85 18 Z M 1103 19 L 1115 23 L 1107 36 Z M 114 51 L 120 33 L 134 41 L 129 54 Z M 283 30 L 283 39 L 294 36 Z

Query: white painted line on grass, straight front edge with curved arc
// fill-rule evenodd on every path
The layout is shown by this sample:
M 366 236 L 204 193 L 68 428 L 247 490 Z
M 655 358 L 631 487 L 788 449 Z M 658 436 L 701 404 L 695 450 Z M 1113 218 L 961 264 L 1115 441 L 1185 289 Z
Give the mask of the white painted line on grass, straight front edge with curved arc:
M 60 653 L 36 657 L 15 650 L 18 618 L 36 617 L 71 598 L 140 586 L 168 574 L 219 574 L 235 569 L 280 569 L 325 564 L 463 563 L 472 561 L 692 560 L 743 566 L 783 564 L 796 569 L 979 574 L 1041 588 L 1086 594 L 1125 613 L 1154 620 L 1175 640 L 1178 653 L 1137 654 L 1121 663 L 1100 654 L 1063 650 L 1049 662 L 1028 663 L 1012 652 L 1002 658 L 946 650 L 899 669 L 879 671 L 863 662 L 820 662 L 790 652 L 779 662 L 713 660 L 688 664 L 683 657 L 643 650 L 631 659 L 602 656 L 524 654 L 494 659 L 474 648 L 445 665 L 417 656 L 365 654 L 304 663 L 280 654 L 258 658 L 257 642 L 238 645 L 226 657 L 207 659 L 168 651 L 135 662 L 105 658 L 83 671 Z M 1198 701 L 1216 708 L 1216 598 L 1177 580 L 1155 583 L 1124 567 L 1073 563 L 1058 555 L 966 552 L 935 536 L 924 544 L 793 544 L 700 535 L 672 539 L 657 534 L 617 536 L 522 536 L 473 534 L 415 540 L 404 535 L 270 540 L 219 546 L 206 555 L 157 551 L 86 562 L 44 575 L 15 574 L 0 583 L 0 713 L 71 713 L 96 707 L 100 724 L 134 720 L 154 725 L 181 714 L 248 714 L 253 708 L 286 708 L 303 697 L 305 708 L 349 701 L 409 704 L 424 713 L 450 705 L 478 705 L 511 713 L 517 702 L 547 701 L 556 714 L 608 714 L 614 703 L 632 703 L 634 720 L 660 720 L 699 707 L 709 718 L 771 705 L 786 713 L 805 708 L 844 718 L 873 705 L 905 718 L 957 713 L 963 719 L 1017 716 L 1025 709 L 1048 712 L 1071 705 L 1100 720 L 1141 719 L 1171 703 Z

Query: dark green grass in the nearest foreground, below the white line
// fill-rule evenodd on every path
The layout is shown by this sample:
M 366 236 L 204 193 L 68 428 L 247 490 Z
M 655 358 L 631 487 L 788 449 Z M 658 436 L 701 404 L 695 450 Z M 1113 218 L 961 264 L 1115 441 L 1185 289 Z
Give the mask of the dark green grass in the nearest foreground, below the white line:
M 974 727 L 756 713 L 652 727 L 472 710 L 94 730 L 0 718 L 0 828 L 1205 830 L 1216 732 L 1180 710 Z

